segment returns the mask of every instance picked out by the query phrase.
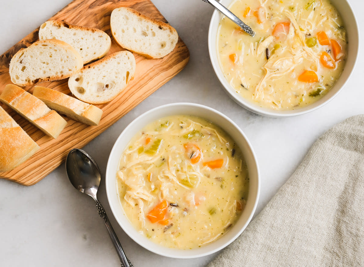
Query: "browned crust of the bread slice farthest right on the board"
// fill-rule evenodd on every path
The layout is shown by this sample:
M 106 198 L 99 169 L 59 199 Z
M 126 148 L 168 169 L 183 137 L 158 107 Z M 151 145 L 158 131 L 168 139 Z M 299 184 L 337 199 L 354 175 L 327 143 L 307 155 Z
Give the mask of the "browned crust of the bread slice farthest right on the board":
M 128 7 L 119 7 L 119 8 L 115 8 L 115 9 L 111 12 L 111 16 L 112 16 L 112 13 L 113 13 L 113 12 L 117 12 L 117 11 L 118 11 L 118 10 L 120 10 L 120 9 L 126 9 L 127 11 L 129 11 L 129 12 L 133 13 L 134 15 L 138 16 L 139 18 L 142 18 L 142 19 L 144 19 L 144 20 L 148 21 L 150 24 L 154 24 L 155 26 L 157 26 L 157 27 L 159 27 L 159 28 L 163 28 L 163 27 L 165 27 L 165 28 L 167 28 L 168 30 L 173 31 L 173 32 L 175 32 L 175 33 L 177 34 L 177 31 L 175 30 L 175 28 L 173 28 L 173 27 L 172 27 L 172 26 L 170 26 L 169 24 L 164 23 L 164 22 L 161 22 L 161 21 L 159 21 L 159 20 L 152 19 L 152 18 L 150 18 L 149 16 L 147 16 L 147 15 L 145 15 L 145 14 L 143 14 L 143 13 L 141 13 L 141 12 L 139 12 L 139 11 L 135 10 L 135 9 L 132 9 L 132 8 L 128 8 Z M 115 33 L 115 31 L 114 31 L 114 30 L 112 30 L 113 26 L 112 26 L 112 24 L 111 24 L 111 21 L 110 21 L 110 28 L 111 28 L 111 34 L 112 34 L 112 36 L 114 37 L 115 42 L 116 42 L 116 43 L 118 43 L 118 44 L 119 44 L 119 46 L 123 47 L 124 49 L 127 49 L 127 50 L 129 50 L 129 51 L 131 51 L 131 52 L 133 52 L 133 53 L 136 53 L 136 54 L 142 55 L 143 57 L 145 57 L 145 58 L 147 58 L 147 59 L 161 58 L 161 57 L 153 57 L 153 56 L 151 56 L 151 55 L 149 55 L 149 54 L 145 54 L 145 53 L 143 53 L 142 51 L 134 50 L 132 47 L 127 46 L 126 44 L 122 43 L 122 40 L 119 40 L 119 38 L 118 38 L 117 36 L 115 36 L 115 34 L 114 34 L 114 33 Z M 164 56 L 165 56 L 165 55 L 164 55 Z M 162 56 L 162 57 L 164 57 L 164 56 Z

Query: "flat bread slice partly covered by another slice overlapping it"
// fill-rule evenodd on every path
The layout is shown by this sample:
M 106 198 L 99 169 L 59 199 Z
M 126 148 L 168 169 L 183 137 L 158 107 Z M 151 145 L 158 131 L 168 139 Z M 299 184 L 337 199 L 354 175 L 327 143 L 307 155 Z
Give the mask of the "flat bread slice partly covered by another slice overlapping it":
M 39 40 L 46 39 L 71 44 L 80 53 L 83 64 L 102 58 L 111 46 L 110 36 L 106 32 L 58 20 L 49 20 L 40 26 Z

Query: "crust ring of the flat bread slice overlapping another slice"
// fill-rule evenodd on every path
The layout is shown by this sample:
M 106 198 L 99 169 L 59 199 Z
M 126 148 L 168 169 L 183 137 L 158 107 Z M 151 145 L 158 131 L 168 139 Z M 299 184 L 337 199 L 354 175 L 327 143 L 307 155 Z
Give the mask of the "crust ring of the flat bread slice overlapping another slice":
M 35 46 L 38 46 L 38 45 L 42 45 L 42 44 L 55 44 L 57 46 L 62 46 L 68 50 L 70 50 L 72 52 L 72 54 L 75 55 L 76 57 L 76 70 L 71 72 L 71 73 L 68 73 L 68 74 L 60 74 L 60 75 L 54 75 L 54 76 L 41 76 L 41 77 L 38 77 L 32 81 L 29 81 L 29 82 L 24 82 L 24 83 L 19 83 L 16 81 L 16 79 L 14 78 L 14 76 L 16 74 L 13 74 L 12 73 L 12 64 L 16 64 L 17 63 L 17 59 L 19 59 L 20 55 L 26 50 L 26 49 L 33 49 L 35 48 Z M 11 81 L 16 84 L 16 85 L 19 85 L 19 86 L 32 86 L 32 85 L 36 85 L 36 84 L 40 84 L 41 82 L 49 82 L 49 81 L 56 81 L 56 80 L 62 80 L 62 79 L 65 79 L 65 78 L 68 78 L 70 76 L 72 76 L 73 74 L 77 73 L 83 66 L 83 60 L 82 60 L 82 57 L 81 55 L 78 53 L 78 51 L 76 51 L 70 44 L 66 43 L 66 42 L 63 42 L 61 40 L 56 40 L 56 39 L 47 39 L 47 40 L 40 40 L 40 41 L 37 41 L 37 42 L 34 42 L 32 43 L 30 46 L 28 46 L 27 48 L 22 48 L 20 49 L 19 51 L 17 51 L 15 53 L 15 55 L 13 55 L 11 61 L 10 61 L 10 66 L 9 66 L 9 74 L 10 74 L 10 78 L 11 78 Z

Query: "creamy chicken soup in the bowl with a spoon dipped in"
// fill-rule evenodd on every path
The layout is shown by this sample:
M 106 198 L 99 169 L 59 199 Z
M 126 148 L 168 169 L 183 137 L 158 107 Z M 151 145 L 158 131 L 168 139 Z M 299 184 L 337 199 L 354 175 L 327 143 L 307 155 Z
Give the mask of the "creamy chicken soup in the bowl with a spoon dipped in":
M 328 0 L 237 0 L 229 8 L 254 37 L 222 18 L 217 53 L 237 94 L 271 109 L 317 101 L 335 84 L 346 59 L 346 31 Z

